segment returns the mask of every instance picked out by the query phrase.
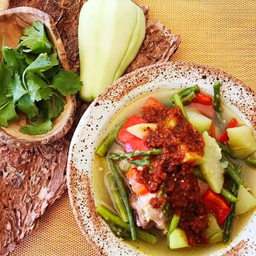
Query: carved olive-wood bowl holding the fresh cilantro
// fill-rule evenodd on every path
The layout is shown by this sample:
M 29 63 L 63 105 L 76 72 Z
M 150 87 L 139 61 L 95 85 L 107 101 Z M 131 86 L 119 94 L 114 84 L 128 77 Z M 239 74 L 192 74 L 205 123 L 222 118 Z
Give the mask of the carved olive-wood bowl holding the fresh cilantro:
M 20 35 L 23 35 L 23 29 L 30 26 L 35 20 L 40 20 L 44 24 L 49 41 L 57 49 L 62 67 L 65 70 L 70 70 L 64 46 L 52 18 L 38 9 L 18 7 L 1 12 L 0 42 L 2 42 L 4 33 L 5 45 L 15 48 L 19 44 Z M 20 132 L 20 127 L 26 125 L 26 116 L 20 114 L 20 119 L 9 122 L 8 127 L 0 127 L 0 140 L 15 147 L 37 146 L 58 140 L 71 128 L 76 111 L 75 96 L 67 95 L 66 102 L 64 111 L 53 120 L 53 128 L 47 134 L 30 136 Z

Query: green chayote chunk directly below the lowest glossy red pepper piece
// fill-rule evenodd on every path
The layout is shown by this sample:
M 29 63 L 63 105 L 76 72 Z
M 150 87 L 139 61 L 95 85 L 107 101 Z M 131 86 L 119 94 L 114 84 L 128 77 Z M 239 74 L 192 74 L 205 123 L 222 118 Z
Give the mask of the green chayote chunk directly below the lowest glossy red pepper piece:
M 209 219 L 209 227 L 204 231 L 205 235 L 209 238 L 210 243 L 221 241 L 223 238 L 223 232 L 215 217 L 212 215 L 212 213 L 209 213 L 207 217 Z

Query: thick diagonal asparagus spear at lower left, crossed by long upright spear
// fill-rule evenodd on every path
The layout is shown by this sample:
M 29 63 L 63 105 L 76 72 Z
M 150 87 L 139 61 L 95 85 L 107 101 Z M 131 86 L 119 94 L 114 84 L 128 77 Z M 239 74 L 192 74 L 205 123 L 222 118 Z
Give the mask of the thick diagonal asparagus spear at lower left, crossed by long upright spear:
M 130 227 L 128 225 L 128 223 L 122 221 L 122 219 L 118 216 L 116 216 L 115 214 L 113 214 L 113 212 L 109 211 L 108 209 L 106 209 L 104 206 L 99 205 L 97 207 L 96 210 L 99 215 L 101 215 L 103 218 L 105 218 L 105 220 L 109 223 L 113 223 L 118 227 L 122 227 L 124 230 L 130 231 Z M 149 233 L 147 233 L 146 231 L 136 227 L 136 233 L 138 235 L 138 237 L 140 237 L 141 239 L 144 239 L 145 241 L 151 243 L 151 244 L 156 244 L 157 242 L 157 238 Z

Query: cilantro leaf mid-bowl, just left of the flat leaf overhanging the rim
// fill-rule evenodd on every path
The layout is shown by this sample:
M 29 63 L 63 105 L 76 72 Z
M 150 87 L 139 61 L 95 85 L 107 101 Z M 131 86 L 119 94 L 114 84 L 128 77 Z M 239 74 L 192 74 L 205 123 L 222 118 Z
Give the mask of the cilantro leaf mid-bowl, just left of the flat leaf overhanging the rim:
M 47 87 L 48 84 L 37 75 L 29 76 L 27 84 L 32 102 L 49 99 L 52 96 L 52 90 Z

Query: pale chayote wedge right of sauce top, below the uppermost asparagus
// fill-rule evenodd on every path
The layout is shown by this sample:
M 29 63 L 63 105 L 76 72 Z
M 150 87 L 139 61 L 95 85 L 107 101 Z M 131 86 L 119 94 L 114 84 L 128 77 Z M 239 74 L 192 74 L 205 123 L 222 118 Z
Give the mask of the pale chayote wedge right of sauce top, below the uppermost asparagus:
M 188 115 L 189 122 L 191 122 L 191 124 L 197 128 L 198 132 L 202 134 L 204 131 L 209 131 L 212 124 L 211 119 L 204 116 L 200 112 L 191 109 L 186 109 L 186 113 Z

